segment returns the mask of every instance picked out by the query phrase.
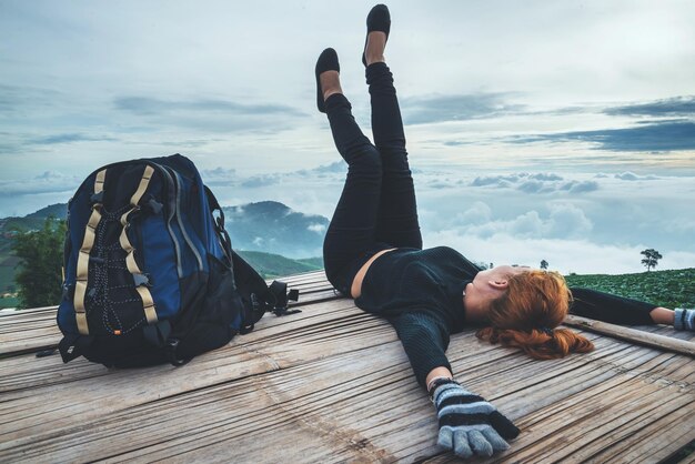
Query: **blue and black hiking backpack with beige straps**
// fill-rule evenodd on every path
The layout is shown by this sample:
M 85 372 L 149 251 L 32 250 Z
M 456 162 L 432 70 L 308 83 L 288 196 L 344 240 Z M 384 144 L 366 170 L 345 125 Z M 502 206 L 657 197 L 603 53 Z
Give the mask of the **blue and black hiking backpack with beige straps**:
M 63 361 L 114 367 L 184 364 L 265 311 L 291 313 L 299 294 L 269 288 L 232 250 L 220 204 L 180 154 L 90 174 L 68 203 L 63 270 Z

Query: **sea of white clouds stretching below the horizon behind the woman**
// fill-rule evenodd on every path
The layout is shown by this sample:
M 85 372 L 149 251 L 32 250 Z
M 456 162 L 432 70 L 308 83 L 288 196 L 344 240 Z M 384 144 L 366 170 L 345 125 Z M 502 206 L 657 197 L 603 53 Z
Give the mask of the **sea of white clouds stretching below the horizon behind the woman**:
M 331 218 L 346 164 L 241 175 L 203 170 L 223 205 L 274 200 Z M 639 272 L 639 252 L 663 254 L 657 269 L 695 266 L 695 178 L 633 172 L 498 172 L 464 167 L 413 169 L 425 246 L 449 245 L 473 261 L 563 273 Z M 33 182 L 4 182 L 1 215 L 66 202 L 80 180 L 46 172 Z M 233 225 L 232 225 L 233 226 Z M 316 232 L 316 231 L 313 231 Z

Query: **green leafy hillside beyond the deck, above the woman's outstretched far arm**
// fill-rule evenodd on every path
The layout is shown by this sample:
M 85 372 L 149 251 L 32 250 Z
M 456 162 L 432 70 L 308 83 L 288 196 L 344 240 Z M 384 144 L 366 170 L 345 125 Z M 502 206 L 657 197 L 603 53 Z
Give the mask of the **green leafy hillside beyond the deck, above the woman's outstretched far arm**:
M 664 307 L 695 307 L 695 268 L 637 274 L 568 275 L 571 286 L 585 286 Z

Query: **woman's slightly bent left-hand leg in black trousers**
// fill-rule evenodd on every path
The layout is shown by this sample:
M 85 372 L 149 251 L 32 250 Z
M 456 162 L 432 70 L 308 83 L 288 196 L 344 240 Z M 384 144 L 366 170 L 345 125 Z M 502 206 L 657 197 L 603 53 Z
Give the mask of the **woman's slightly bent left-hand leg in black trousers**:
M 381 157 L 357 127 L 351 108 L 342 93 L 332 93 L 325 100 L 333 141 L 348 162 L 348 176 L 325 234 L 323 259 L 329 281 L 348 295 L 355 261 L 375 245 L 382 183 Z

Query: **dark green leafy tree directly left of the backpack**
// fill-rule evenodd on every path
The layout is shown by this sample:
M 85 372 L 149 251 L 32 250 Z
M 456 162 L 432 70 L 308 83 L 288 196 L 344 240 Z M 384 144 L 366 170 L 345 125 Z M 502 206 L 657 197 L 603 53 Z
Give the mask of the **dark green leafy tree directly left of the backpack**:
M 49 306 L 61 299 L 62 251 L 66 221 L 47 218 L 38 231 L 14 238 L 14 254 L 20 259 L 14 282 L 21 307 Z

